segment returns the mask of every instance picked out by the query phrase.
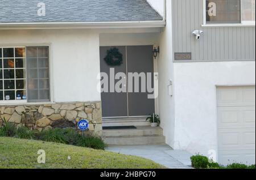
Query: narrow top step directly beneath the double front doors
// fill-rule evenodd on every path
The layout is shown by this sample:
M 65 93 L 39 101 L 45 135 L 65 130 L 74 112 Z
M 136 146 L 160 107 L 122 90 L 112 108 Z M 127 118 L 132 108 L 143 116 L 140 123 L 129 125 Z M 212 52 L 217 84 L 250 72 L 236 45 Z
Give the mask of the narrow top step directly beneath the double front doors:
M 150 126 L 150 122 L 146 118 L 103 119 L 102 126 Z

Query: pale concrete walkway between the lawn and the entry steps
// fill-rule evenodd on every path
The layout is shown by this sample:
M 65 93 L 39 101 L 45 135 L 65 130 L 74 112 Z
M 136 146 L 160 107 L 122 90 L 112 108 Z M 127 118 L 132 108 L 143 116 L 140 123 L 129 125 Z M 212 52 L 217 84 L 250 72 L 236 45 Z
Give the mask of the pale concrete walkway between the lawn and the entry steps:
M 173 150 L 168 145 L 110 146 L 106 151 L 148 158 L 170 169 L 191 168 L 191 154 L 187 151 Z

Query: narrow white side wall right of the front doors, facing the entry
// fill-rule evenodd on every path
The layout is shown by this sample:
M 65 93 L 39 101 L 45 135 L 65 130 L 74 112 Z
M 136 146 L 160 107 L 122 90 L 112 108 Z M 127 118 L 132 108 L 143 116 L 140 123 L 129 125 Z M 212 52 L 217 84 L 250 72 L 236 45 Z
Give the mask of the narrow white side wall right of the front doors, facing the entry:
M 159 72 L 159 115 L 161 119 L 160 126 L 163 128 L 166 143 L 174 147 L 175 143 L 175 109 L 174 96 L 170 96 L 168 85 L 170 80 L 174 80 L 174 65 L 172 63 L 172 18 L 171 1 L 167 1 L 167 25 L 160 34 L 159 46 L 160 54 L 158 58 Z

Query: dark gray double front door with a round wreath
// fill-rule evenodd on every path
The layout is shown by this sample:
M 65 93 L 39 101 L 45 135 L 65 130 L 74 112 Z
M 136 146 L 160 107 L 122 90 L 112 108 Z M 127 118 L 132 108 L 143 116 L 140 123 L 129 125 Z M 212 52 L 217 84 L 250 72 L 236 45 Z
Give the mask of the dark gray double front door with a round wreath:
M 123 72 L 128 77 L 128 72 L 151 72 L 151 84 L 154 83 L 154 62 L 152 46 L 116 46 L 123 54 L 123 63 L 120 66 L 109 66 L 104 58 L 110 46 L 100 47 L 101 72 L 110 77 L 110 68 L 114 68 L 115 74 Z M 118 82 L 119 80 L 115 80 Z M 141 79 L 140 79 L 141 83 Z M 109 79 L 110 84 L 110 79 Z M 134 87 L 134 85 L 133 85 Z M 110 87 L 109 87 L 110 90 Z M 103 92 L 101 93 L 103 117 L 140 117 L 155 112 L 155 100 L 148 99 L 148 92 Z M 147 91 L 147 88 L 146 88 Z

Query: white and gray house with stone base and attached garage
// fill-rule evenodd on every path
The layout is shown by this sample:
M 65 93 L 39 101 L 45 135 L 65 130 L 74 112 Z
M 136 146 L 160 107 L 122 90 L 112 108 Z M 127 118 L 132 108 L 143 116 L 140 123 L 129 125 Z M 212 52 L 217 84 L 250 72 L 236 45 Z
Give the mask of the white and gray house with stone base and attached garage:
M 255 0 L 2 0 L 0 110 L 255 163 Z

